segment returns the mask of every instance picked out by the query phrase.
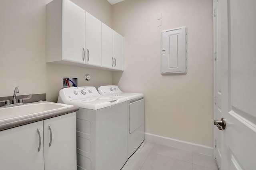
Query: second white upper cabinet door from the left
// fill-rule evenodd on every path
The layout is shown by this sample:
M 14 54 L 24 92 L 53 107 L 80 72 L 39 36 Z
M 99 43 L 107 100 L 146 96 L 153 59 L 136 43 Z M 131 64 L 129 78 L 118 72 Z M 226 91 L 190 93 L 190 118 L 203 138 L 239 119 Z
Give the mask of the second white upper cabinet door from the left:
M 101 67 L 101 22 L 88 12 L 85 12 L 85 47 L 85 63 Z

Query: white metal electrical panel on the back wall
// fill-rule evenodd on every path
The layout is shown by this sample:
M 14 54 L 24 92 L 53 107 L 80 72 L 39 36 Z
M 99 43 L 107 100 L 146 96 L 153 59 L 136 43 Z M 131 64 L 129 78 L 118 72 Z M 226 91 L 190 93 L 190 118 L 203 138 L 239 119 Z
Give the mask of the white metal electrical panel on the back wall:
M 187 73 L 187 27 L 162 31 L 161 74 Z

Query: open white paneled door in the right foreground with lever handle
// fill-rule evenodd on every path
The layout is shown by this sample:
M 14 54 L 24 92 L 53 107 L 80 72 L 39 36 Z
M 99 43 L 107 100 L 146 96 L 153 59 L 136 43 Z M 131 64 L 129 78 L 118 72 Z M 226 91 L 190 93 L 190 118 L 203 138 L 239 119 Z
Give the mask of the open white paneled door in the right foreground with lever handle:
M 221 170 L 256 168 L 256 1 L 219 0 L 221 10 Z

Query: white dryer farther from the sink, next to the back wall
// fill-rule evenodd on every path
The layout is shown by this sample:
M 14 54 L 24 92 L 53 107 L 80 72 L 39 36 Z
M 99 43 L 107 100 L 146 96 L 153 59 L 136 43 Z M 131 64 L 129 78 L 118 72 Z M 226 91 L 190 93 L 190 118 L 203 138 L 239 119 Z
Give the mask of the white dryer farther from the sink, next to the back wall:
M 103 96 L 124 97 L 128 101 L 128 158 L 144 141 L 144 95 L 124 93 L 116 85 L 101 86 L 98 92 Z

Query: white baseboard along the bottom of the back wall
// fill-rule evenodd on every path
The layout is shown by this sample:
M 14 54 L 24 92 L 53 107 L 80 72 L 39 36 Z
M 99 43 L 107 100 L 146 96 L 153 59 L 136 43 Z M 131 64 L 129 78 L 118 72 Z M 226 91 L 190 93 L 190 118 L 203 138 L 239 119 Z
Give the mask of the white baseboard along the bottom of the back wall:
M 210 146 L 205 146 L 202 144 L 196 144 L 196 143 L 192 143 L 192 142 L 186 142 L 183 140 L 177 140 L 177 139 L 173 139 L 173 138 L 167 138 L 164 136 L 159 136 L 159 135 L 150 134 L 150 133 L 145 133 L 145 139 L 151 140 L 158 144 L 163 144 L 166 146 L 172 146 L 175 148 L 189 150 L 191 152 L 196 152 L 196 153 L 200 153 L 200 154 L 213 156 L 213 148 Z

